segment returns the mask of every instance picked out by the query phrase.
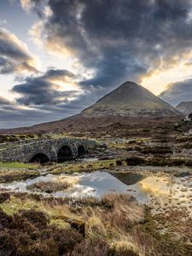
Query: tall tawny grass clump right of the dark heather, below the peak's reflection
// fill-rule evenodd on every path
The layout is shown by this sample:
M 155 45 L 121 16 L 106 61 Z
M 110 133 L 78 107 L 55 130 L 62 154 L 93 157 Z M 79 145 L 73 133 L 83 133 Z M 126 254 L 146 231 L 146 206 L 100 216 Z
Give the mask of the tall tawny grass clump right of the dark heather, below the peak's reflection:
M 83 218 L 87 222 L 87 234 L 92 239 L 108 241 L 113 249 L 125 249 L 142 255 L 143 246 L 131 234 L 131 227 L 143 222 L 144 207 L 128 195 L 107 195 L 102 199 L 112 206 L 110 210 L 101 207 L 86 207 Z

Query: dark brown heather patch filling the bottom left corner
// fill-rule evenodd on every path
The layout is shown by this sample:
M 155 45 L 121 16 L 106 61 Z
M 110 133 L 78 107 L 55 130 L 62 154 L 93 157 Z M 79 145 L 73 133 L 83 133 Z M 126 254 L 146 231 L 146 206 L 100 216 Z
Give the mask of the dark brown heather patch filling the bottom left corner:
M 33 210 L 10 217 L 0 209 L 0 227 L 1 255 L 66 255 L 83 240 L 75 230 L 49 225 L 43 212 Z

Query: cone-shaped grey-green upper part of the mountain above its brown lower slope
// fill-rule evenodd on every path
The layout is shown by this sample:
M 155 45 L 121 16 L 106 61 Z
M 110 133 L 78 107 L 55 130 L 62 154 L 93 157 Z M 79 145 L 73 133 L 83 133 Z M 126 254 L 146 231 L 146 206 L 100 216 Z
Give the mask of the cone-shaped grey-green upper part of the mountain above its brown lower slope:
M 134 82 L 125 82 L 82 111 L 87 116 L 120 115 L 129 117 L 167 117 L 181 113 L 149 90 Z

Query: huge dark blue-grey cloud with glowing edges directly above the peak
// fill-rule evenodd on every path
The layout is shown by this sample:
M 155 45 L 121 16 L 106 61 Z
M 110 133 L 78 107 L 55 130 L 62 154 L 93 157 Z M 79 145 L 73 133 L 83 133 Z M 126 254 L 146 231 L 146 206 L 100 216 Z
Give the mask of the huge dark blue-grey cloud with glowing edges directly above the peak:
M 190 0 L 49 0 L 41 10 L 39 1 L 27 3 L 41 12 L 33 27 L 36 42 L 94 71 L 84 85 L 140 81 L 172 67 L 191 48 Z

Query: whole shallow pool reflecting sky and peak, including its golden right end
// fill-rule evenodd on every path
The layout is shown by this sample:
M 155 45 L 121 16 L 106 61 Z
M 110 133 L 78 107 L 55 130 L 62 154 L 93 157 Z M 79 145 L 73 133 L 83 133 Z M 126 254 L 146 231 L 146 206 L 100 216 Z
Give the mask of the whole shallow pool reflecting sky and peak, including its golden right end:
M 44 196 L 76 198 L 85 196 L 101 198 L 108 193 L 123 193 L 133 195 L 138 202 L 150 206 L 154 214 L 175 208 L 183 209 L 192 216 L 192 177 L 190 176 L 143 177 L 140 174 L 108 172 L 74 173 L 72 176 L 48 174 L 21 182 L 0 183 L 0 189 L 37 193 L 37 190 L 29 190 L 27 186 L 40 181 L 56 181 L 57 179 L 67 179 L 73 185 L 65 191 L 49 194 L 38 191 L 38 193 Z

